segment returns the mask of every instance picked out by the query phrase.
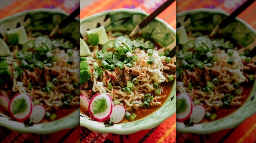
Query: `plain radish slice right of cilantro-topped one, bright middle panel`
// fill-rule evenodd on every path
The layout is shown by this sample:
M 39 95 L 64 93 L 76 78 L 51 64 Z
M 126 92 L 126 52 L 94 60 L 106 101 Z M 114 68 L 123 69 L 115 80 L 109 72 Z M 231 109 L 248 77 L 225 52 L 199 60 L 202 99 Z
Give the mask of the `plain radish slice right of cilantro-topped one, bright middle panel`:
M 109 116 L 109 118 L 113 119 L 112 120 L 113 123 L 119 123 L 124 118 L 125 113 L 126 113 L 126 109 L 124 108 L 124 106 L 115 105 L 113 107 L 112 113 Z

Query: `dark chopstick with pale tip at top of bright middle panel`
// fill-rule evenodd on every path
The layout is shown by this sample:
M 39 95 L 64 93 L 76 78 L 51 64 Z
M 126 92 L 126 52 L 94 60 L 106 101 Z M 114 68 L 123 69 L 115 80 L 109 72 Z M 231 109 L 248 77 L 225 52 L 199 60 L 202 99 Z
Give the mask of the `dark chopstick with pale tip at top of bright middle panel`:
M 170 6 L 175 0 L 167 0 L 159 8 L 153 11 L 148 17 L 146 17 L 140 24 L 138 24 L 133 31 L 130 33 L 130 37 L 137 34 L 143 27 L 145 27 L 149 22 L 151 22 L 155 17 L 157 17 L 164 9 Z

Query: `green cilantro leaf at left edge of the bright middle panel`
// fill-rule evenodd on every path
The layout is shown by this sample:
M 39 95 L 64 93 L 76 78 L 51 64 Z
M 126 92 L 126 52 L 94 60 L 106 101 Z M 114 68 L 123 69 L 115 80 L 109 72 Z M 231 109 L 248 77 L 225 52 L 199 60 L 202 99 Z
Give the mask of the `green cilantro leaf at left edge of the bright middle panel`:
M 87 82 L 87 80 L 91 78 L 90 69 L 91 67 L 86 61 L 80 62 L 80 84 L 83 84 L 83 82 Z

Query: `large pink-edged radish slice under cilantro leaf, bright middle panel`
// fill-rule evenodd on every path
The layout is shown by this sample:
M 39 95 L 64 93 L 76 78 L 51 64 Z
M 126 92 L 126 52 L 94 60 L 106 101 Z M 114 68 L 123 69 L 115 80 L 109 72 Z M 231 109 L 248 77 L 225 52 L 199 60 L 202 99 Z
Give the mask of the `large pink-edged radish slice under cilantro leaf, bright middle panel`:
M 97 100 L 105 99 L 107 103 L 107 108 L 104 112 L 93 114 L 93 111 L 96 109 L 95 105 Z M 95 94 L 92 100 L 89 103 L 89 114 L 90 116 L 95 119 L 96 121 L 103 122 L 109 119 L 110 114 L 112 113 L 113 102 L 109 94 L 107 93 L 100 93 Z

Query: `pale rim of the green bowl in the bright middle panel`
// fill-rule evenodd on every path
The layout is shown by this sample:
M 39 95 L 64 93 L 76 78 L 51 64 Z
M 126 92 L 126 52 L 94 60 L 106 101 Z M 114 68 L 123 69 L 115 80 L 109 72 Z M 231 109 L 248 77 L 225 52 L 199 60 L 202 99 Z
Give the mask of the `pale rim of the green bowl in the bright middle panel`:
M 135 9 L 118 8 L 118 9 L 113 9 L 113 10 L 102 11 L 102 12 L 93 14 L 91 16 L 88 16 L 86 18 L 83 18 L 83 19 L 80 20 L 80 25 L 85 23 L 89 19 L 96 19 L 99 16 L 103 16 L 103 15 L 105 15 L 107 13 L 112 13 L 112 12 L 130 12 L 130 13 L 139 13 L 139 14 L 146 15 L 146 16 L 149 15 L 146 12 L 142 12 L 142 11 L 135 10 Z M 158 17 L 156 17 L 155 20 L 160 22 L 160 23 L 162 23 L 164 26 L 166 26 L 166 28 L 168 28 L 168 30 L 173 32 L 173 34 L 175 34 L 175 40 L 176 40 L 176 30 L 172 26 L 170 26 L 169 24 L 167 24 L 165 21 L 161 20 Z M 174 81 L 174 84 L 172 86 L 172 90 L 170 92 L 170 95 L 169 95 L 168 99 L 166 99 L 166 102 L 168 100 L 170 100 L 172 98 L 172 96 L 174 96 L 173 100 L 176 100 L 176 80 Z M 156 110 L 152 114 L 156 113 L 158 110 Z M 93 131 L 96 131 L 96 132 L 100 132 L 100 133 L 114 133 L 114 134 L 120 134 L 120 135 L 132 134 L 132 133 L 135 133 L 135 132 L 139 132 L 141 130 L 151 129 L 151 128 L 154 128 L 154 127 L 160 125 L 164 120 L 166 120 L 167 118 L 170 118 L 171 116 L 173 116 L 175 112 L 176 112 L 176 106 L 174 106 L 174 108 L 172 110 L 170 110 L 168 112 L 165 112 L 164 116 L 162 116 L 160 119 L 156 120 L 155 122 L 148 123 L 147 125 L 145 125 L 145 124 L 139 125 L 136 128 L 128 128 L 128 129 L 127 128 L 125 128 L 125 129 L 123 129 L 123 128 L 111 128 L 111 127 L 102 128 L 102 127 L 99 127 L 99 126 L 96 126 L 96 125 L 89 124 L 84 119 L 85 117 L 81 117 L 81 116 L 80 116 L 80 126 L 86 127 L 86 128 L 88 128 L 90 130 L 93 130 Z M 152 114 L 148 115 L 147 117 L 150 117 Z M 147 118 L 147 117 L 144 117 L 144 118 Z M 142 118 L 142 119 L 144 119 L 144 118 Z M 138 122 L 140 120 L 141 119 L 133 121 L 133 122 Z M 133 123 L 133 122 L 128 122 L 128 123 Z M 122 123 L 122 124 L 126 124 L 126 123 Z M 117 125 L 122 125 L 122 124 L 117 124 Z

